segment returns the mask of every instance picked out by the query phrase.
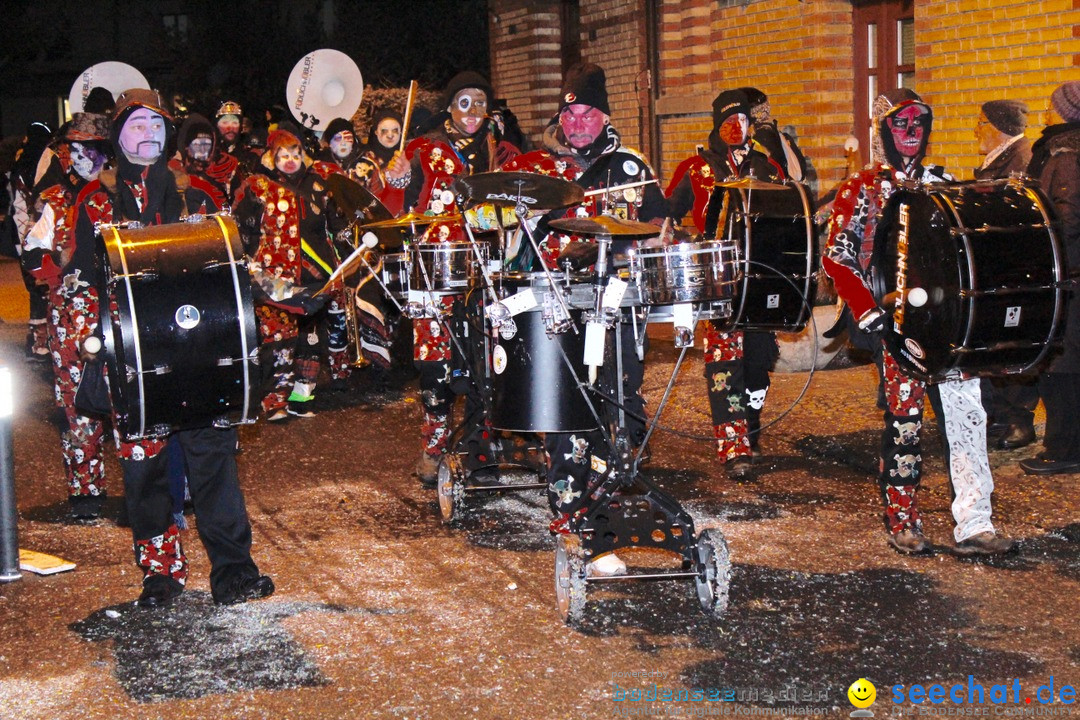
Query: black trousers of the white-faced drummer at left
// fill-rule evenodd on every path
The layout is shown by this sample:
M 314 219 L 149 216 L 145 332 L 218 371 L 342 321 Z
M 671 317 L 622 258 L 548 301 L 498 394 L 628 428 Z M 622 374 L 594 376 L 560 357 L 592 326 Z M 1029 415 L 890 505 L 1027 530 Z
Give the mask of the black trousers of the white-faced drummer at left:
M 237 578 L 258 575 L 252 560 L 252 526 L 237 472 L 237 430 L 200 427 L 174 433 L 188 464 L 188 488 L 199 539 L 210 557 L 210 586 L 227 588 Z M 173 525 L 167 453 L 121 460 L 127 517 L 136 542 L 161 535 Z

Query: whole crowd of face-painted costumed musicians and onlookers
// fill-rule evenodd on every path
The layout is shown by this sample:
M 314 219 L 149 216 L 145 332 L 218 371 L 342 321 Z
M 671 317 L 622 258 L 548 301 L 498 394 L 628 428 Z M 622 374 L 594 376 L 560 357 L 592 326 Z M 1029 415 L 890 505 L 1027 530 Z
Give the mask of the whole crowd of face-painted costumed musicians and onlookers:
M 997 99 L 980 110 L 975 135 L 984 162 L 980 179 L 1026 173 L 1038 179 L 1056 207 L 1061 240 L 1070 267 L 1080 264 L 1080 82 L 1065 83 L 1051 98 L 1057 117 L 1031 146 L 1028 109 Z M 585 201 L 540 219 L 535 245 L 519 243 L 515 268 L 557 269 L 580 241 L 553 231 L 566 215 L 606 214 L 657 226 L 658 242 L 693 233 L 723 234 L 733 215 L 730 193 L 719 180 L 747 178 L 774 185 L 804 182 L 808 160 L 793 137 L 771 118 L 767 95 L 755 87 L 720 92 L 713 103 L 712 130 L 700 151 L 678 164 L 666 192 L 646 158 L 625 146 L 611 123 L 607 80 L 593 64 L 579 64 L 565 78 L 558 112 L 542 128 L 536 149 L 496 108 L 488 80 L 475 72 L 455 76 L 438 111 L 405 127 L 397 108 L 379 108 L 367 119 L 364 142 L 352 118 L 337 118 L 315 138 L 281 119 L 248 126 L 243 109 L 222 101 L 214 120 L 191 113 L 177 118 L 153 91 L 130 90 L 113 98 L 95 89 L 82 112 L 56 132 L 32 124 L 10 176 L 11 206 L 4 234 L 16 248 L 30 293 L 27 356 L 53 365 L 56 403 L 64 409 L 60 437 L 71 513 L 97 517 L 107 492 L 103 440 L 107 419 L 76 404 L 80 381 L 93 366 L 85 341 L 100 334 L 102 258 L 95 254 L 95 225 L 137 221 L 166 225 L 192 214 L 229 210 L 237 220 L 255 301 L 259 339 L 261 410 L 270 422 L 310 418 L 320 382 L 348 388 L 357 366 L 384 370 L 395 329 L 406 322 L 379 288 L 349 291 L 328 284 L 336 268 L 360 242 L 356 216 L 336 196 L 329 179 L 341 175 L 366 188 L 389 215 L 427 216 L 411 242 L 467 242 L 455 180 L 495 171 L 559 178 L 589 192 Z M 880 370 L 883 429 L 879 487 L 889 544 L 906 554 L 923 553 L 918 488 L 923 406 L 929 396 L 945 439 L 954 491 L 956 549 L 961 554 L 1008 552 L 1013 542 L 991 522 L 994 490 L 987 446 L 1015 449 L 1035 441 L 1034 410 L 1047 409 L 1043 451 L 1022 462 L 1025 472 L 1080 472 L 1080 303 L 1070 302 L 1064 349 L 1030 377 L 980 380 L 955 377 L 927 383 L 905 367 L 883 341 L 892 299 L 876 293 L 872 274 L 875 235 L 890 194 L 905 181 L 951 179 L 926 164 L 933 111 L 909 90 L 881 94 L 874 104 L 872 162 L 834 191 L 825 227 L 822 267 L 846 303 L 848 329 L 862 338 Z M 405 141 L 403 142 L 403 136 Z M 662 225 L 684 230 L 661 232 Z M 616 239 L 618 241 L 618 239 Z M 617 244 L 617 243 L 616 243 Z M 612 252 L 625 247 L 612 247 Z M 564 256 L 564 254 L 567 254 Z M 368 259 L 378 263 L 377 254 Z M 588 262 L 585 264 L 589 264 Z M 348 282 L 348 281 L 346 281 Z M 373 293 L 374 290 L 374 293 Z M 419 371 L 422 417 L 416 472 L 433 487 L 453 426 L 462 358 L 463 293 L 444 293 L 433 312 L 413 318 L 414 362 Z M 346 311 L 349 312 L 346 312 Z M 624 311 L 625 312 L 625 311 Z M 350 331 L 350 313 L 359 329 Z M 630 324 L 620 327 L 629 332 Z M 360 332 L 352 342 L 350 335 Z M 633 446 L 645 436 L 640 395 L 644 364 L 634 338 L 622 342 L 625 435 Z M 735 480 L 753 479 L 760 452 L 761 410 L 778 357 L 769 330 L 733 329 L 710 321 L 705 332 L 705 381 L 718 462 Z M 325 370 L 323 369 L 325 367 Z M 365 382 L 377 372 L 361 379 Z M 467 417 L 475 409 L 467 402 Z M 251 557 L 251 526 L 237 479 L 234 429 L 204 427 L 161 437 L 117 435 L 124 497 L 136 561 L 144 583 L 139 604 L 165 607 L 187 578 L 181 527 L 174 514 L 166 448 L 183 460 L 197 527 L 211 558 L 215 601 L 242 602 L 274 589 Z M 590 498 L 597 458 L 609 443 L 600 431 L 549 432 L 549 501 L 552 530 Z M 603 465 L 603 462 L 600 462 Z M 181 484 L 183 488 L 184 484 Z M 613 554 L 597 558 L 596 574 L 625 572 Z

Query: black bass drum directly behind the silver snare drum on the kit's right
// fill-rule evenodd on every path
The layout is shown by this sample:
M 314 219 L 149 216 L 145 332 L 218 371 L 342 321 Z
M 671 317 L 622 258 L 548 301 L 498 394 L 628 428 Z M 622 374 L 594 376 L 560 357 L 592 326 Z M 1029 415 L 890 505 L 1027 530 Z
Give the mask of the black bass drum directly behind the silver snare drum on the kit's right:
M 818 241 L 806 188 L 788 182 L 769 190 L 725 191 L 727 217 L 717 240 L 738 244 L 743 268 L 734 286 L 734 327 L 801 330 L 818 288 Z

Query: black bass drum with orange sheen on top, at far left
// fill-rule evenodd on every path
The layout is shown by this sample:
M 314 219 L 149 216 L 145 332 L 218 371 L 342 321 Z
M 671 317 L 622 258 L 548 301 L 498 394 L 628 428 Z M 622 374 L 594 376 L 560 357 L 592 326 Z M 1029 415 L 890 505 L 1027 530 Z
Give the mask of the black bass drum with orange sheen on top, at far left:
M 258 342 L 251 282 L 228 216 L 107 226 L 102 312 L 117 430 L 129 439 L 253 422 Z

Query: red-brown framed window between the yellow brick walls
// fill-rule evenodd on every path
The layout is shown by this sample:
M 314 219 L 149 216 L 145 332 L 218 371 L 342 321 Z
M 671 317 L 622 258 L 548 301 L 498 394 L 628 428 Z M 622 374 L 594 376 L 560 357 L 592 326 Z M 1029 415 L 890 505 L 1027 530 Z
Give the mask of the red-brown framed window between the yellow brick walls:
M 896 87 L 915 87 L 914 0 L 856 2 L 854 25 L 855 137 L 869 158 L 874 98 Z

